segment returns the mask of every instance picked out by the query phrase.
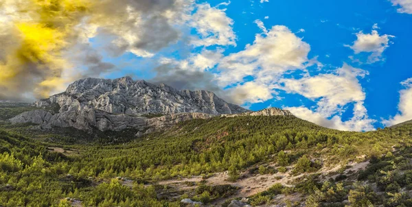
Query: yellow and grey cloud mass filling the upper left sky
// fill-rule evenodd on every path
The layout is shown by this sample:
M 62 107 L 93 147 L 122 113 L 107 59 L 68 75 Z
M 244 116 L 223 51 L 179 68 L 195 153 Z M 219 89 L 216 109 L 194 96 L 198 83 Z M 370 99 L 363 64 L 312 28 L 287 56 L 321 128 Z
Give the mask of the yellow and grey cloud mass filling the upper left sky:
M 106 39 L 113 56 L 153 56 L 178 40 L 177 27 L 192 5 L 192 0 L 1 1 L 0 97 L 47 97 L 82 75 L 113 69 L 90 48 L 90 38 Z M 85 57 L 72 53 L 76 49 L 86 51 Z

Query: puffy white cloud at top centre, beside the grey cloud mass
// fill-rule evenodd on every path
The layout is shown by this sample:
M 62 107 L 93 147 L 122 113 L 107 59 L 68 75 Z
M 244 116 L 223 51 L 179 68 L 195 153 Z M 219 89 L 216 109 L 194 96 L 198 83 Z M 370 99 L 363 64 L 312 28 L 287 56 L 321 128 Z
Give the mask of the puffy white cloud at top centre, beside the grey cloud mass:
M 236 46 L 233 23 L 233 20 L 226 16 L 225 9 L 212 8 L 209 3 L 199 4 L 190 20 L 190 26 L 194 27 L 199 34 L 198 38 L 192 40 L 192 43 L 196 46 Z

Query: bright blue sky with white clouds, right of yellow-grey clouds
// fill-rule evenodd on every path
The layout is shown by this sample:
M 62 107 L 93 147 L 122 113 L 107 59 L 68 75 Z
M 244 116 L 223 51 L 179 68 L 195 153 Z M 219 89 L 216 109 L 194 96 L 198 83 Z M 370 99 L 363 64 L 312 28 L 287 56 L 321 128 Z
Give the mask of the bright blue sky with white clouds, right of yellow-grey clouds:
M 204 87 L 251 110 L 286 108 L 326 127 L 374 130 L 412 119 L 407 3 L 196 1 L 187 18 L 190 22 L 199 10 L 207 10 L 209 16 L 194 20 L 206 19 L 206 25 L 179 25 L 181 38 L 150 57 L 126 52 L 113 58 L 103 52 L 105 61 L 117 65 L 104 77 L 132 75 L 166 84 L 173 79 L 170 84 L 177 88 Z M 91 42 L 102 48 L 105 37 Z M 195 57 L 205 53 L 209 64 L 200 66 Z M 179 85 L 176 71 L 207 75 Z M 193 76 L 185 75 L 181 78 L 191 82 Z

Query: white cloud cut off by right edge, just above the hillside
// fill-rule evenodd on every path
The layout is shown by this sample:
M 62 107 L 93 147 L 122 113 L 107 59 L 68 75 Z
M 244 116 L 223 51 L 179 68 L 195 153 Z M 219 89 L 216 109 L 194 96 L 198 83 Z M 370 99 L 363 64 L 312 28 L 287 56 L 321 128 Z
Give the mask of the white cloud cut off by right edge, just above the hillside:
M 412 78 L 401 82 L 405 88 L 400 90 L 400 100 L 398 104 L 399 113 L 395 117 L 383 121 L 385 125 L 395 125 L 412 119 Z

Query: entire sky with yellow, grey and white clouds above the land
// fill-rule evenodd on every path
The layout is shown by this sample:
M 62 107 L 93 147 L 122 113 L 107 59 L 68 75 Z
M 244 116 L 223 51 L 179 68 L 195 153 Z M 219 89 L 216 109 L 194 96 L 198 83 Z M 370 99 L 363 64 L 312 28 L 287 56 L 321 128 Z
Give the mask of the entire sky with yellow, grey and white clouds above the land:
M 0 9 L 0 99 L 130 76 L 337 130 L 412 119 L 412 0 L 0 0 Z

